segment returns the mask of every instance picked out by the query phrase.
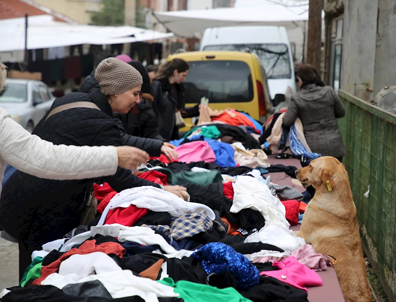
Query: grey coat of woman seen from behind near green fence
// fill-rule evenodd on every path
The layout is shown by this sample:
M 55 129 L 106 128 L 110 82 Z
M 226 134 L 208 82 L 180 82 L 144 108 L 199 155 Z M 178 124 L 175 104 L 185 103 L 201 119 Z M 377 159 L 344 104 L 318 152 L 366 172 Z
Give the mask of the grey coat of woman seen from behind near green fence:
M 292 96 L 283 126 L 289 127 L 300 118 L 312 152 L 339 158 L 346 150 L 337 119 L 344 116 L 345 108 L 332 87 L 309 84 Z

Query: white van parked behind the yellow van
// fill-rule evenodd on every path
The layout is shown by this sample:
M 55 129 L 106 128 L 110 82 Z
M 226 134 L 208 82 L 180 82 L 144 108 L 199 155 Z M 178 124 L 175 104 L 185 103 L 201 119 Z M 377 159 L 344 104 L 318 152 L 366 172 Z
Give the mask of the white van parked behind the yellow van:
M 284 27 L 208 28 L 201 40 L 200 50 L 254 53 L 263 63 L 271 99 L 274 100 L 277 94 L 283 94 L 287 104 L 291 95 L 296 92 L 293 56 Z M 277 107 L 278 104 L 274 105 Z

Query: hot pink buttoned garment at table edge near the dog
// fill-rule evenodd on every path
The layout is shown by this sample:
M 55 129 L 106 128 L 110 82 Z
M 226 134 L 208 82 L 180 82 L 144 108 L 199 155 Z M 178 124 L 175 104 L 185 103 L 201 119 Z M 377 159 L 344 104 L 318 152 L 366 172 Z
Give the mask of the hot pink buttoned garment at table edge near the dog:
M 306 286 L 322 286 L 323 282 L 317 272 L 298 262 L 297 258 L 290 256 L 283 262 L 275 261 L 272 266 L 279 271 L 261 272 L 260 275 L 274 277 L 295 288 L 308 292 Z

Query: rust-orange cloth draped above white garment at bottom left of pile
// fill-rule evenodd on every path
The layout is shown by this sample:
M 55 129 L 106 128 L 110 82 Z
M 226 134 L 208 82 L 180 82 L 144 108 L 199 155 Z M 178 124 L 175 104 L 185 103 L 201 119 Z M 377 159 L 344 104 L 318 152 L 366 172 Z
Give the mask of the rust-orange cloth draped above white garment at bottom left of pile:
M 46 279 L 49 275 L 56 273 L 59 269 L 60 263 L 63 260 L 66 260 L 71 255 L 79 254 L 86 255 L 96 251 L 101 251 L 106 254 L 115 254 L 116 256 L 122 258 L 125 254 L 126 250 L 121 246 L 121 244 L 116 242 L 105 242 L 99 245 L 96 245 L 96 240 L 88 240 L 80 245 L 79 248 L 72 248 L 69 251 L 65 252 L 63 255 L 59 257 L 56 261 L 51 263 L 50 265 L 43 266 L 41 268 L 41 277 L 33 281 L 32 285 L 41 285 L 41 282 Z

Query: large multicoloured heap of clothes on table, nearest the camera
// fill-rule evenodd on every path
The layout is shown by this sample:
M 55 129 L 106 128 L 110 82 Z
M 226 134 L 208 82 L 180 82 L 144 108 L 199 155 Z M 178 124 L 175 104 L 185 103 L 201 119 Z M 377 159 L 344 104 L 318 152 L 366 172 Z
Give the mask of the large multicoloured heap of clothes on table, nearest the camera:
M 331 260 L 289 229 L 306 195 L 265 177 L 293 168 L 270 167 L 248 137 L 258 144 L 235 125 L 200 125 L 173 142 L 178 162 L 156 158 L 134 172 L 185 186 L 187 201 L 94 184 L 95 219 L 33 252 L 1 301 L 307 302 Z

